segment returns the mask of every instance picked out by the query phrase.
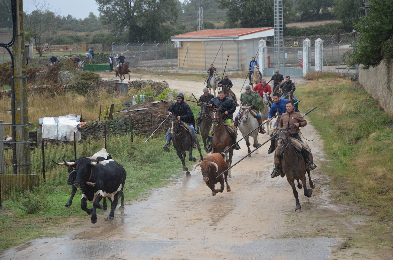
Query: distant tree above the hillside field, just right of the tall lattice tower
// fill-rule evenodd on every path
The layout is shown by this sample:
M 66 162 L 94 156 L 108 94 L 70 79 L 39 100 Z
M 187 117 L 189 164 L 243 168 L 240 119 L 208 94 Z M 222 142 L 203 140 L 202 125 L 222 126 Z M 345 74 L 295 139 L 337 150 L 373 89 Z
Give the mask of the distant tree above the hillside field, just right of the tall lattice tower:
M 333 6 L 333 1 L 334 0 L 298 0 L 295 10 L 300 16 L 300 21 L 328 19 L 332 17 L 328 7 Z

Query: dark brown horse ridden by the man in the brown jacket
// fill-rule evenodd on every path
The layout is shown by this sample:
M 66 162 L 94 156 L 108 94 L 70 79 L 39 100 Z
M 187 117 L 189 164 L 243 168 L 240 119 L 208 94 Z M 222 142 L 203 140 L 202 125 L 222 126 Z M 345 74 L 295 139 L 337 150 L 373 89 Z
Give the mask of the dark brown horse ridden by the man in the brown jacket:
M 276 139 L 277 139 L 277 149 L 280 149 L 282 151 L 281 167 L 285 172 L 286 179 L 288 180 L 288 183 L 292 186 L 292 190 L 294 192 L 294 197 L 296 201 L 295 212 L 300 212 L 301 206 L 298 199 L 298 191 L 296 190 L 295 187 L 295 179 L 298 179 L 299 189 L 302 188 L 302 185 L 299 183 L 299 179 L 301 180 L 301 183 L 303 183 L 304 195 L 307 198 L 311 197 L 312 189 L 315 189 L 315 185 L 314 183 L 312 183 L 310 177 L 310 170 L 307 169 L 307 174 L 309 175 L 309 184 L 310 187 L 312 188 L 312 189 L 307 189 L 305 173 L 306 173 L 306 168 L 308 167 L 306 165 L 305 159 L 301 154 L 301 152 L 298 152 L 294 147 L 294 144 L 292 143 L 289 137 L 288 129 L 286 128 L 279 129 L 277 131 Z

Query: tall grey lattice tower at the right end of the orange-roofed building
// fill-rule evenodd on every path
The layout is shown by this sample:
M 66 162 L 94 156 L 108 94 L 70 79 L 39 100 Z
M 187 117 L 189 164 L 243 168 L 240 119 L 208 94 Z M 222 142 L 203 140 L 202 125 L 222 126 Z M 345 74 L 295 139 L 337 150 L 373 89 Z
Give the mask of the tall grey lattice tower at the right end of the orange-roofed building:
M 283 0 L 274 0 L 274 62 L 277 68 L 284 67 L 284 55 Z

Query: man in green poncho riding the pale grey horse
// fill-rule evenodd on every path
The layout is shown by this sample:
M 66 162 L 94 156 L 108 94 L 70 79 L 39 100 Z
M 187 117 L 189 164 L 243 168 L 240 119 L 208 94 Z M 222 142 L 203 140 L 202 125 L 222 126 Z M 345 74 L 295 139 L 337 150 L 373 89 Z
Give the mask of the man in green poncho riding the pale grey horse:
M 259 111 L 263 108 L 263 99 L 257 92 L 251 90 L 250 86 L 246 86 L 246 91 L 240 95 L 240 104 L 247 104 L 248 109 L 253 109 L 257 113 L 257 120 L 259 126 L 259 133 L 266 134 L 266 131 L 263 129 L 262 118 Z M 240 111 L 237 113 L 235 117 L 235 127 L 237 127 L 237 123 L 239 121 Z

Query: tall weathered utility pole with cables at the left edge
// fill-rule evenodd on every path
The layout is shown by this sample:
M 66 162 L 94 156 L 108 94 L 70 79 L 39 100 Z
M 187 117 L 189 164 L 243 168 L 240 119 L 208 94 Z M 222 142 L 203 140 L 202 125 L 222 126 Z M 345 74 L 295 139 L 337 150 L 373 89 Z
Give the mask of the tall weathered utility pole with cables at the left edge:
M 14 90 L 15 94 L 15 126 L 16 135 L 13 136 L 13 143 L 17 150 L 17 170 L 18 174 L 30 174 L 30 147 L 29 147 L 29 111 L 27 93 L 27 71 L 26 71 L 26 50 L 24 40 L 24 20 L 23 20 L 23 1 L 17 0 L 16 3 L 16 30 L 14 52 Z M 19 142 L 21 141 L 21 142 Z

